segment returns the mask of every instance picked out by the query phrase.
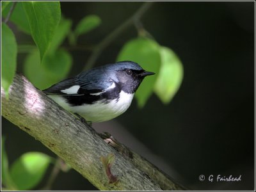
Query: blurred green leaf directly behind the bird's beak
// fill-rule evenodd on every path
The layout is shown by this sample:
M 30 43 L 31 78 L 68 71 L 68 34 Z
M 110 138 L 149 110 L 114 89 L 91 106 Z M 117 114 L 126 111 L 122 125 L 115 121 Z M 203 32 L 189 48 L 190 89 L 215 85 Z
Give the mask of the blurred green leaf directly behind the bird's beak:
M 155 72 L 156 75 L 145 77 L 138 88 L 135 97 L 138 100 L 138 106 L 142 108 L 152 94 L 154 83 L 159 71 L 161 58 L 159 54 L 159 45 L 154 40 L 139 37 L 127 42 L 118 54 L 117 61 L 134 61 L 143 69 Z

